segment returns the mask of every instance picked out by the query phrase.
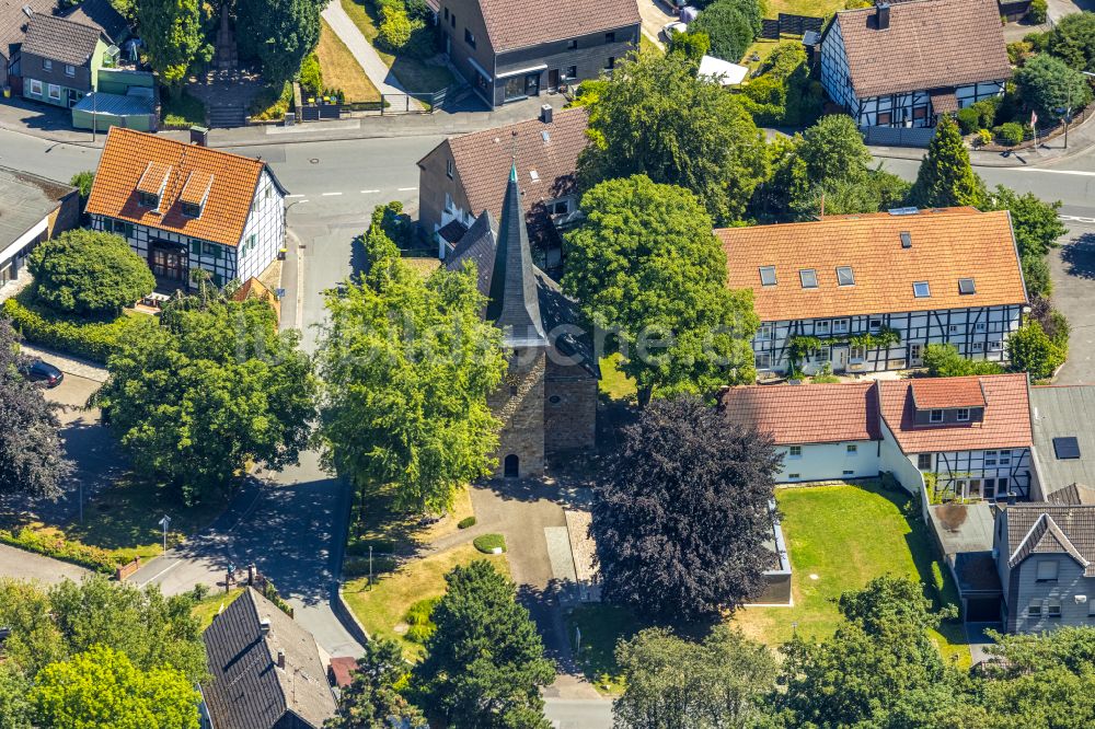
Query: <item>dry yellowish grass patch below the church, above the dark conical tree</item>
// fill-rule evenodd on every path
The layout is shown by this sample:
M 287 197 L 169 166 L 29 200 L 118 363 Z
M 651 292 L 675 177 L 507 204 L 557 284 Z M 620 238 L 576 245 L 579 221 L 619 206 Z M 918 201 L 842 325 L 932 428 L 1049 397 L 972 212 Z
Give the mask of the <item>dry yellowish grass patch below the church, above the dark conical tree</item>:
M 404 622 L 405 616 L 413 605 L 445 594 L 446 572 L 476 559 L 488 560 L 495 569 L 509 577 L 509 563 L 505 555 L 483 556 L 471 544 L 462 544 L 400 565 L 394 571 L 382 575 L 371 588 L 365 578 L 350 580 L 343 588 L 343 595 L 369 635 L 393 638 L 403 646 L 408 659 L 417 659 L 423 649 L 407 639 L 410 626 Z

